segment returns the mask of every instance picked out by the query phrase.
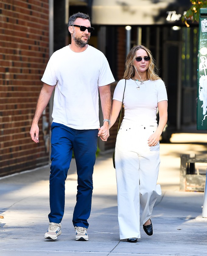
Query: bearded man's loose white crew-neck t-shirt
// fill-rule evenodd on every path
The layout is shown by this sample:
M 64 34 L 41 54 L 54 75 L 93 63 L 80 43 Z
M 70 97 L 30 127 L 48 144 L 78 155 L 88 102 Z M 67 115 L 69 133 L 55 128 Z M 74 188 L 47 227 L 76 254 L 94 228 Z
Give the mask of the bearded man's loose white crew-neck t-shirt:
M 101 51 L 88 45 L 76 53 L 65 46 L 52 54 L 41 80 L 56 85 L 53 122 L 78 130 L 100 127 L 98 87 L 114 82 Z

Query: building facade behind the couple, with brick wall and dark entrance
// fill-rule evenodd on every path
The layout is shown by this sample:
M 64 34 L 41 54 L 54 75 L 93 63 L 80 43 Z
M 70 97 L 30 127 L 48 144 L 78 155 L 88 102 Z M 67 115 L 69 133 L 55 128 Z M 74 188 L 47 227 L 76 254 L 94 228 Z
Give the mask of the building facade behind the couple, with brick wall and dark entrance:
M 163 140 L 196 125 L 198 25 L 181 16 L 189 0 L 7 0 L 0 1 L 0 176 L 46 165 L 50 158 L 52 99 L 39 121 L 40 143 L 30 139 L 41 77 L 50 55 L 70 43 L 68 17 L 89 13 L 95 28 L 89 44 L 101 50 L 113 72 L 114 88 L 124 74 L 128 51 L 147 46 L 168 94 Z M 100 108 L 101 109 L 101 108 Z M 100 111 L 100 123 L 103 116 Z M 118 124 L 101 152 L 114 149 Z

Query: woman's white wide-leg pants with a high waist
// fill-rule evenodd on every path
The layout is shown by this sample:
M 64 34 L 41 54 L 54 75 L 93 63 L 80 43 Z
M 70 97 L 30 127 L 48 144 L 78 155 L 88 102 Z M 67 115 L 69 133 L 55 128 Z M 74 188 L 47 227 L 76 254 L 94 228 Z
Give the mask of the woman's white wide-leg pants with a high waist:
M 156 199 L 162 193 L 156 184 L 160 144 L 155 147 L 147 144 L 156 129 L 157 126 L 122 122 L 117 135 L 115 165 L 120 239 L 141 238 L 140 225 L 151 217 Z

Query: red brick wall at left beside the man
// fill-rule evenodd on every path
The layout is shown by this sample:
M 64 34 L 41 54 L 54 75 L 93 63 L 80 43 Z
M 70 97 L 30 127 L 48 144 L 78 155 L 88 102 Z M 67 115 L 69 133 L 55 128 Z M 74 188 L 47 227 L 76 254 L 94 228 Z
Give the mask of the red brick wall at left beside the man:
M 42 119 L 40 143 L 29 134 L 49 58 L 48 8 L 48 0 L 0 1 L 0 176 L 48 163 Z

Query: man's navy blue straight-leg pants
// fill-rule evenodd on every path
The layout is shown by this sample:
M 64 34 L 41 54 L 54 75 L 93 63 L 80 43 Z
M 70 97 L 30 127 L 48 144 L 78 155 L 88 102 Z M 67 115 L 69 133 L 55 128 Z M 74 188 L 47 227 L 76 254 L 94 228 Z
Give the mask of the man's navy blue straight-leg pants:
M 65 180 L 72 159 L 78 175 L 74 227 L 88 228 L 93 191 L 93 166 L 96 161 L 98 129 L 75 130 L 63 124 L 51 125 L 51 171 L 49 221 L 60 223 L 65 209 Z

